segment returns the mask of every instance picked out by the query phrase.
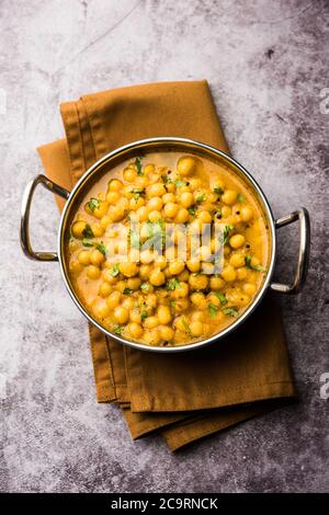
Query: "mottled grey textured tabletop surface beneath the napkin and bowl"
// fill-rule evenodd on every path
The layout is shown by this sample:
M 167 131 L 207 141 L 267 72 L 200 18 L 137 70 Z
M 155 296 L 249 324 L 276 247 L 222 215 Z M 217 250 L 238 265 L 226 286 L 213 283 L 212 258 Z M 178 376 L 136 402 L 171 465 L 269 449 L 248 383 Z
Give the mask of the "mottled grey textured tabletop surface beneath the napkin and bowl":
M 328 16 L 310 0 L 1 1 L 1 491 L 328 490 Z M 58 266 L 23 258 L 18 227 L 34 148 L 61 136 L 60 101 L 186 78 L 208 79 L 275 215 L 309 208 L 313 252 L 305 290 L 283 300 L 300 402 L 171 455 L 159 437 L 133 443 L 118 411 L 97 404 L 84 320 Z M 58 213 L 36 197 L 33 240 L 54 250 Z M 296 231 L 282 232 L 280 277 L 296 255 Z

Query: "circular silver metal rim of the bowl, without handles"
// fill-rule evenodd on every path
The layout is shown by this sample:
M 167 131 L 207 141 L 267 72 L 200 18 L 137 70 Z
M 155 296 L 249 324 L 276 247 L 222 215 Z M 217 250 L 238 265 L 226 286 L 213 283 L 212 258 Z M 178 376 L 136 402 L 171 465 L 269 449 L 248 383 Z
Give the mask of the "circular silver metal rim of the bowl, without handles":
M 268 273 L 266 277 L 262 284 L 262 287 L 258 291 L 257 296 L 254 297 L 253 301 L 251 305 L 246 309 L 246 311 L 241 314 L 241 317 L 237 318 L 237 320 L 225 328 L 223 331 L 219 333 L 213 334 L 212 336 L 200 340 L 195 343 L 189 343 L 185 345 L 178 345 L 178 346 L 156 346 L 156 345 L 146 345 L 143 343 L 134 342 L 131 340 L 126 340 L 117 334 L 112 333 L 109 331 L 106 328 L 104 328 L 100 322 L 98 322 L 83 307 L 82 302 L 76 295 L 73 288 L 70 286 L 70 282 L 68 278 L 67 271 L 64 266 L 65 262 L 65 229 L 66 229 L 66 221 L 68 219 L 69 213 L 71 210 L 72 205 L 75 204 L 75 198 L 77 193 L 80 191 L 80 187 L 88 182 L 88 179 L 93 174 L 93 172 L 99 169 L 105 161 L 112 160 L 116 156 L 123 153 L 123 152 L 128 152 L 136 150 L 140 146 L 147 146 L 147 145 L 155 145 L 155 144 L 163 144 L 169 146 L 169 145 L 183 145 L 186 146 L 192 146 L 197 152 L 197 149 L 202 149 L 206 152 L 215 153 L 216 156 L 223 158 L 224 160 L 227 160 L 231 165 L 236 167 L 239 169 L 239 171 L 242 173 L 248 179 L 249 184 L 253 187 L 254 192 L 257 195 L 260 197 L 263 204 L 263 209 L 264 209 L 264 215 L 266 220 L 269 221 L 270 229 L 271 229 L 271 259 L 268 267 Z M 263 296 L 269 287 L 269 284 L 271 282 L 273 271 L 274 271 L 274 265 L 275 265 L 275 258 L 276 258 L 276 236 L 275 236 L 275 221 L 273 217 L 273 213 L 271 209 L 271 206 L 269 204 L 269 201 L 263 193 L 262 188 L 258 184 L 258 182 L 253 179 L 253 176 L 240 164 L 236 159 L 231 158 L 228 156 L 226 152 L 223 150 L 219 150 L 211 145 L 194 140 L 194 139 L 189 139 L 189 138 L 180 138 L 180 137 L 170 137 L 170 136 L 161 136 L 161 137 L 154 137 L 154 138 L 146 138 L 146 139 L 140 139 L 137 141 L 133 141 L 127 145 L 123 145 L 115 150 L 112 150 L 111 152 L 106 153 L 103 156 L 101 159 L 95 161 L 84 173 L 83 175 L 79 179 L 79 181 L 75 184 L 73 188 L 71 190 L 69 197 L 65 204 L 65 207 L 61 213 L 60 217 L 60 222 L 59 222 L 59 230 L 58 230 L 58 238 L 57 238 L 57 247 L 58 247 L 58 258 L 59 258 L 59 266 L 61 271 L 61 275 L 66 285 L 66 288 L 78 307 L 78 309 L 82 312 L 82 314 L 91 322 L 94 327 L 97 327 L 102 333 L 105 335 L 113 337 L 115 341 L 122 343 L 123 345 L 127 345 L 132 348 L 136 348 L 138 351 L 146 351 L 146 352 L 158 352 L 158 353 L 177 353 L 177 352 L 186 352 L 186 351 L 195 351 L 201 347 L 205 347 L 212 343 L 218 342 L 219 340 L 225 339 L 234 332 L 237 328 L 239 328 L 246 320 L 247 318 L 250 317 L 250 314 L 254 311 L 254 309 L 259 306 L 261 300 L 263 299 Z

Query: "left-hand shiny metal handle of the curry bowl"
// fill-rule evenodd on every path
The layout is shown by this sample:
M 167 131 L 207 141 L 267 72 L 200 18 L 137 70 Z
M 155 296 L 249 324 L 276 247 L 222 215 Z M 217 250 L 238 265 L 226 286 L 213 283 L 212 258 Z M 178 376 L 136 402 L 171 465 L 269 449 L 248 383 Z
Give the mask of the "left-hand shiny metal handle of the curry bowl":
M 59 186 L 55 182 L 47 179 L 45 175 L 37 175 L 33 181 L 31 181 L 23 194 L 22 201 L 22 211 L 21 211 L 21 247 L 24 254 L 30 258 L 30 260 L 35 261 L 58 261 L 57 252 L 35 252 L 30 242 L 30 210 L 31 203 L 33 198 L 34 191 L 38 184 L 42 184 L 49 192 L 56 193 L 56 195 L 61 196 L 65 199 L 68 199 L 70 192 Z

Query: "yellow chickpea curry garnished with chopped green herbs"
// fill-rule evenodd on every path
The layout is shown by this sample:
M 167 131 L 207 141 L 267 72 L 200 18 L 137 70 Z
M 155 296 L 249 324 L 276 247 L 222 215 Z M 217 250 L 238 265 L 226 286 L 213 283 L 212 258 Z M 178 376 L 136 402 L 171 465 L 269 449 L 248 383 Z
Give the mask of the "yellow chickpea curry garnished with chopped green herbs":
M 220 333 L 250 307 L 270 241 L 258 198 L 232 170 L 161 151 L 92 185 L 72 218 L 66 258 L 76 295 L 107 331 L 179 346 Z

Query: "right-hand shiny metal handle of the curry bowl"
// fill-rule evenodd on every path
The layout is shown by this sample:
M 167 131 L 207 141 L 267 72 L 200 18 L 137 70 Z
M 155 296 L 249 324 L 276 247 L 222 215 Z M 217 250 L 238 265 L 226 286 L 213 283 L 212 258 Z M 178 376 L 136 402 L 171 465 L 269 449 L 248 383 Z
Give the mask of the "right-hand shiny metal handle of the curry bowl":
M 271 289 L 280 291 L 281 294 L 297 294 L 304 285 L 307 275 L 310 249 L 308 210 L 305 209 L 305 207 L 300 207 L 300 209 L 279 218 L 275 220 L 275 228 L 280 229 L 297 220 L 299 221 L 299 252 L 294 282 L 291 285 L 281 283 L 272 283 L 270 285 Z

